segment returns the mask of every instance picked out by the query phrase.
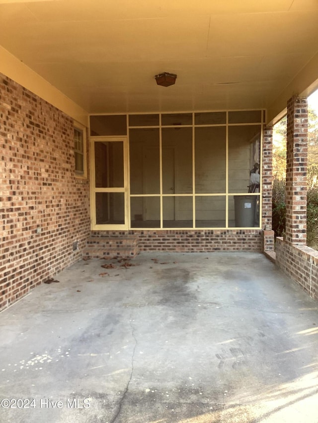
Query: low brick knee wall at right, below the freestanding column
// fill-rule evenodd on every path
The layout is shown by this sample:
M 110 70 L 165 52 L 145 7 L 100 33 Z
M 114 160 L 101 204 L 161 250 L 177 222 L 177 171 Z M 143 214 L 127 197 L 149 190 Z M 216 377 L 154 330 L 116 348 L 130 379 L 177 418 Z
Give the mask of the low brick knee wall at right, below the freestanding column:
M 276 238 L 276 264 L 313 300 L 318 301 L 318 251 Z

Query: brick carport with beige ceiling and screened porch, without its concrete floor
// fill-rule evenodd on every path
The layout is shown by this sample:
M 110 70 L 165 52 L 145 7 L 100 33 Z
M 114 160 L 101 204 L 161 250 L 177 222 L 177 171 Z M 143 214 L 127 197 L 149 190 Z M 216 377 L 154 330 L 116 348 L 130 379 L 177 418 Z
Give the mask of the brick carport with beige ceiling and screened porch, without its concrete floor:
M 0 309 L 87 254 L 138 251 L 276 254 L 318 300 L 317 19 L 313 0 L 0 0 Z M 272 127 L 286 113 L 274 245 Z

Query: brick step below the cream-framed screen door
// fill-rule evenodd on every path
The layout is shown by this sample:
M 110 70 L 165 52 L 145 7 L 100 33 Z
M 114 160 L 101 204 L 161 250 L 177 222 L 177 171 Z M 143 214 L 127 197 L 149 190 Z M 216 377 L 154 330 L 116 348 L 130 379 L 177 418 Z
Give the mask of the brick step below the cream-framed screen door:
M 133 258 L 139 253 L 138 236 L 90 237 L 83 249 L 86 258 Z

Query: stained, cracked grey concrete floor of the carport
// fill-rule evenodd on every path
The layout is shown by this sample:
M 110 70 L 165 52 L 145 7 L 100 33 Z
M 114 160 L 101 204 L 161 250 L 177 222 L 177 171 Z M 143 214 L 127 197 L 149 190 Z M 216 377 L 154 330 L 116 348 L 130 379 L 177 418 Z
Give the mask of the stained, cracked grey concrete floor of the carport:
M 264 255 L 56 279 L 0 314 L 0 422 L 318 422 L 318 304 Z

